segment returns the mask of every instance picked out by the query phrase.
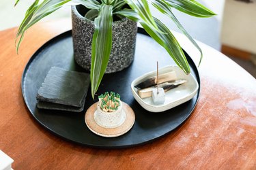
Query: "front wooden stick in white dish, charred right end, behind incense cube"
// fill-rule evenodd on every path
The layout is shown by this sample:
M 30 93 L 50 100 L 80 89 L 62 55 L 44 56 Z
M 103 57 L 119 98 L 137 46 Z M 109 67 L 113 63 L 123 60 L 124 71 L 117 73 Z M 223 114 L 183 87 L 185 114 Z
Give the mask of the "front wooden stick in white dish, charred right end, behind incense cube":
M 165 92 L 176 88 L 177 86 L 180 86 L 181 84 L 184 84 L 185 82 L 187 82 L 186 80 L 176 80 L 175 82 L 165 82 L 162 84 L 159 84 L 159 88 L 163 88 L 165 90 Z M 138 91 L 138 95 L 139 97 L 141 97 L 141 99 L 143 98 L 147 98 L 147 97 L 152 97 L 152 90 L 153 88 L 156 88 L 156 86 L 152 86 L 150 88 L 144 88 Z

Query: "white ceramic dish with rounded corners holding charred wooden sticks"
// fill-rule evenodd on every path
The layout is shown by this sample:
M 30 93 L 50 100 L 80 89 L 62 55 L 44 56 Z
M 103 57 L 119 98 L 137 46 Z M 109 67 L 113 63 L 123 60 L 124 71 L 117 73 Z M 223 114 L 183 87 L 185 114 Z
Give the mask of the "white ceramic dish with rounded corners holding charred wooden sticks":
M 137 84 L 147 80 L 148 78 L 154 77 L 156 75 L 156 71 L 145 73 L 144 75 L 135 79 L 132 82 L 131 84 L 132 95 L 134 99 L 136 99 L 144 109 L 150 112 L 163 112 L 167 109 L 171 109 L 177 105 L 180 105 L 182 103 L 185 103 L 186 101 L 189 101 L 197 93 L 199 85 L 197 83 L 197 80 L 195 80 L 195 78 L 193 77 L 193 75 L 191 74 L 186 75 L 186 73 L 184 73 L 184 71 L 182 71 L 180 67 L 177 67 L 175 65 L 169 65 L 167 67 L 160 68 L 159 74 L 167 73 L 169 71 L 175 71 L 177 80 L 186 79 L 187 82 L 165 92 L 165 103 L 163 103 L 162 105 L 154 105 L 152 101 L 152 97 L 141 99 L 141 97 L 139 97 L 138 95 L 137 88 L 134 88 L 134 86 L 136 86 Z

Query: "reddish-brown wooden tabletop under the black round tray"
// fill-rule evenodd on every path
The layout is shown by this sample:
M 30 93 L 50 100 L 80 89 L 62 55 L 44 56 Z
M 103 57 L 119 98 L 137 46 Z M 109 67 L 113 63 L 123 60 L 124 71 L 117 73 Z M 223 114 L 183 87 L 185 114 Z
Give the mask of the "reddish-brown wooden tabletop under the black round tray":
M 200 42 L 199 102 L 175 131 L 121 150 L 79 146 L 48 132 L 23 101 L 21 76 L 40 46 L 69 29 L 70 20 L 36 24 L 18 55 L 17 28 L 0 32 L 0 149 L 14 159 L 14 169 L 256 169 L 256 80 Z M 197 50 L 183 35 L 175 35 L 197 62 Z

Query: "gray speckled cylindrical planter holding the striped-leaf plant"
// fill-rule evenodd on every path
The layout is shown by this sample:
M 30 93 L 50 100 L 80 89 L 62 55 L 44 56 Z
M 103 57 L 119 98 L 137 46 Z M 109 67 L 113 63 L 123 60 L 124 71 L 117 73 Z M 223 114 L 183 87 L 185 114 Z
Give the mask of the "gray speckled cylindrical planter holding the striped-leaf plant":
M 82 5 L 72 6 L 72 37 L 74 59 L 86 70 L 91 68 L 91 41 L 94 22 L 85 19 L 87 9 Z M 137 22 L 124 18 L 113 22 L 112 50 L 106 73 L 121 71 L 134 58 Z

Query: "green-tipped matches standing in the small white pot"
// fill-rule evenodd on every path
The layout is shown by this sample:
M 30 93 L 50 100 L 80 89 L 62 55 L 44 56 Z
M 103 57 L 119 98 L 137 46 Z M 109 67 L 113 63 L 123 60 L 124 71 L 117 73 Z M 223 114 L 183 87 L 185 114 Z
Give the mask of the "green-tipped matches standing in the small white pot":
M 100 95 L 99 97 L 99 105 L 100 109 L 104 112 L 115 112 L 120 105 L 120 95 L 115 92 L 105 92 L 104 95 Z

